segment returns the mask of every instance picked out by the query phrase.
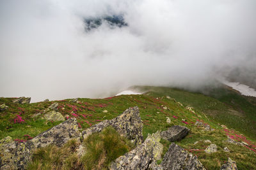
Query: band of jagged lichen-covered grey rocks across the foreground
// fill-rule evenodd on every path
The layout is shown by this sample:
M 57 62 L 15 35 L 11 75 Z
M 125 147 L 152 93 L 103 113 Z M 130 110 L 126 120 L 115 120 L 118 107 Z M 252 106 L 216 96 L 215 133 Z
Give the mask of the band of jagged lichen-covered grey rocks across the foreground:
M 12 141 L 12 138 L 6 137 L 0 141 L 0 169 L 26 169 L 36 148 L 48 145 L 61 147 L 70 139 L 77 139 L 82 143 L 90 134 L 100 132 L 108 126 L 113 127 L 121 136 L 125 136 L 136 145 L 131 152 L 111 162 L 109 169 L 205 169 L 196 156 L 175 143 L 170 145 L 161 164 L 157 164 L 157 160 L 162 159 L 161 153 L 163 152 L 160 139 L 179 141 L 188 135 L 190 130 L 187 127 L 174 125 L 167 131 L 148 134 L 147 139 L 143 141 L 143 122 L 137 106 L 125 110 L 112 120 L 104 120 L 93 125 L 83 132 L 79 131 L 76 118 L 69 118 L 27 142 Z M 77 154 L 83 155 L 86 149 L 82 145 L 79 148 Z M 210 148 L 209 152 L 214 152 L 214 149 Z M 234 160 L 230 158 L 227 160 L 221 169 L 237 169 Z

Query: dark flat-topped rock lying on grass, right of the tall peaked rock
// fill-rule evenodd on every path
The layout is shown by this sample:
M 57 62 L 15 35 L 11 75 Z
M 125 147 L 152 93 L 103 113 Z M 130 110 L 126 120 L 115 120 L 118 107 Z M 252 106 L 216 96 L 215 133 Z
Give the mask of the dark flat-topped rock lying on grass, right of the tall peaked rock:
M 173 125 L 167 131 L 161 132 L 161 138 L 168 141 L 177 141 L 188 135 L 190 129 L 180 125 Z

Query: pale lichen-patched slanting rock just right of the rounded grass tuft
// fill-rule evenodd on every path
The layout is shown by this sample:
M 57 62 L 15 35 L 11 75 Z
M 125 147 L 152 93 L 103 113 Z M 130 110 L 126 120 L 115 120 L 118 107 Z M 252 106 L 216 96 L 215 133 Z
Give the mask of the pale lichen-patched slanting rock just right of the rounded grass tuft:
M 159 132 L 148 134 L 147 139 L 141 145 L 111 162 L 109 169 L 148 169 L 152 162 L 156 162 L 155 156 L 161 155 L 157 149 L 161 145 L 160 139 Z

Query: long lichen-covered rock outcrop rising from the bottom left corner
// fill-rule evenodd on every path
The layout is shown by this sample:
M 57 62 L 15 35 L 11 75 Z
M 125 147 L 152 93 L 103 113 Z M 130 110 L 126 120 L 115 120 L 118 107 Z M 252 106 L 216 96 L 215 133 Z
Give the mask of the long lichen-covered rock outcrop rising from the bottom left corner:
M 79 132 L 76 118 L 70 118 L 67 121 L 56 125 L 51 129 L 42 132 L 28 142 L 10 141 L 0 147 L 0 169 L 24 169 L 31 160 L 35 148 L 45 147 L 54 144 L 63 146 L 72 138 L 79 138 Z

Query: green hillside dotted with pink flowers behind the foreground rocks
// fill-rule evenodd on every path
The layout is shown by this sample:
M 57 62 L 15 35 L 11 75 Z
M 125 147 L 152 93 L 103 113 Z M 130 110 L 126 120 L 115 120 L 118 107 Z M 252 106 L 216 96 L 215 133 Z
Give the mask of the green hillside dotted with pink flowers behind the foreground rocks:
M 5 104 L 8 108 L 1 111 L 0 139 L 10 136 L 23 143 L 63 122 L 64 120 L 54 121 L 51 118 L 45 120 L 44 115 L 49 112 L 49 106 L 54 106 L 52 110 L 61 113 L 66 119 L 76 118 L 79 131 L 84 131 L 102 120 L 111 120 L 127 108 L 138 106 L 143 121 L 144 139 L 148 134 L 165 131 L 172 125 L 186 126 L 190 129 L 188 136 L 175 143 L 196 155 L 206 169 L 220 169 L 221 165 L 227 162 L 228 157 L 236 161 L 238 169 L 256 169 L 254 163 L 256 162 L 256 105 L 254 98 L 241 96 L 226 87 L 208 90 L 207 96 L 199 92 L 188 92 L 168 87 L 133 88 L 147 92 L 141 95 L 122 95 L 106 99 L 79 98 L 31 104 L 13 103 L 15 98 L 2 97 L 0 105 Z M 58 104 L 54 105 L 54 103 Z M 55 118 L 56 116 L 52 117 L 52 119 Z M 170 119 L 169 123 L 166 122 L 168 119 Z M 196 122 L 201 122 L 202 125 L 195 125 Z M 209 131 L 205 131 L 205 127 L 208 125 Z M 213 130 L 211 131 L 211 129 Z M 109 131 L 111 132 L 111 130 Z M 227 136 L 245 144 L 227 143 Z M 207 139 L 218 146 L 218 152 L 209 154 L 204 151 L 210 144 L 205 142 Z M 125 139 L 121 140 L 125 141 Z M 163 159 L 171 142 L 164 139 L 161 139 L 160 142 L 164 146 Z M 128 145 L 124 146 L 127 148 L 126 152 L 134 148 L 134 146 Z M 225 152 L 225 147 L 230 152 Z M 34 160 L 36 161 L 36 159 Z M 44 162 L 46 164 L 47 160 L 40 161 L 42 169 L 44 169 L 46 166 Z M 83 160 L 77 160 L 77 162 L 79 165 L 86 164 Z M 161 160 L 157 163 L 160 164 Z M 64 165 L 61 164 L 61 166 Z M 72 168 L 74 167 L 69 167 L 69 169 Z

